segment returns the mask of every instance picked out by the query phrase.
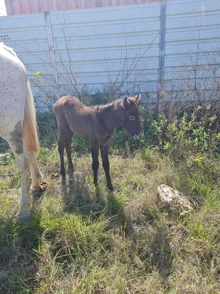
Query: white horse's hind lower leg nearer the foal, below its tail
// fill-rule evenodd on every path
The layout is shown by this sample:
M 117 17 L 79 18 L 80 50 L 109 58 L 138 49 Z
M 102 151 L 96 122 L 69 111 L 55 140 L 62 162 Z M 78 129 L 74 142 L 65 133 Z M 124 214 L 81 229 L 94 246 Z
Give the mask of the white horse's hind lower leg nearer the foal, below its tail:
M 31 169 L 31 190 L 40 190 L 42 187 L 40 185 L 40 182 L 42 180 L 42 173 L 39 169 L 39 166 L 37 164 L 35 155 L 33 152 L 30 152 L 30 169 Z

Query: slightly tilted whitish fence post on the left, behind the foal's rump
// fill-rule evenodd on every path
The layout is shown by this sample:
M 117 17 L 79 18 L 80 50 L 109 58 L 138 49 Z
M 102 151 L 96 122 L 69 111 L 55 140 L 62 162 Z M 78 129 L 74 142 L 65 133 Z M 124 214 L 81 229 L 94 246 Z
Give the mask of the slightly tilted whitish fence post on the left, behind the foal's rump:
M 47 40 L 49 45 L 50 62 L 51 62 L 53 82 L 54 82 L 54 96 L 56 96 L 56 98 L 59 99 L 60 97 L 59 84 L 58 84 L 57 68 L 56 68 L 56 61 L 55 61 L 54 48 L 53 48 L 53 36 L 52 36 L 49 11 L 45 11 L 44 16 L 45 16 L 45 22 L 46 22 Z

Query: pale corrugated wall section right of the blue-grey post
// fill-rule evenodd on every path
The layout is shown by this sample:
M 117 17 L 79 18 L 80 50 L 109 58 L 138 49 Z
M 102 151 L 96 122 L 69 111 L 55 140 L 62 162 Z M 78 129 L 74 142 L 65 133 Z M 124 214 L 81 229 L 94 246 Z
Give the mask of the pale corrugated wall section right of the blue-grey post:
M 167 89 L 173 84 L 175 89 L 184 89 L 190 83 L 189 77 L 194 83 L 195 76 L 201 85 L 212 74 L 208 63 L 214 60 L 216 77 L 220 77 L 219 42 L 220 1 L 168 1 L 164 60 Z M 204 86 L 211 87 L 209 83 Z

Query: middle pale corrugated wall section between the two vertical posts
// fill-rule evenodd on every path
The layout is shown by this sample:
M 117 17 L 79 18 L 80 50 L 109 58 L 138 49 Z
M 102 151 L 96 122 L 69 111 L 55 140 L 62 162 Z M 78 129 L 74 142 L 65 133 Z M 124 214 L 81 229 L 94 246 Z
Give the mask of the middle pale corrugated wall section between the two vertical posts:
M 156 37 L 128 80 L 129 87 L 134 86 L 134 81 L 138 85 L 146 80 L 154 84 L 158 75 L 160 3 L 78 11 L 73 16 L 74 23 L 71 16 L 62 12 L 50 16 L 56 36 L 54 48 L 60 89 L 69 83 L 69 73 L 66 73 L 69 58 L 74 73 L 78 72 L 79 85 L 102 89 L 109 80 L 118 78 L 120 82 Z M 64 22 L 62 30 L 60 23 Z M 153 84 L 149 82 L 148 87 Z

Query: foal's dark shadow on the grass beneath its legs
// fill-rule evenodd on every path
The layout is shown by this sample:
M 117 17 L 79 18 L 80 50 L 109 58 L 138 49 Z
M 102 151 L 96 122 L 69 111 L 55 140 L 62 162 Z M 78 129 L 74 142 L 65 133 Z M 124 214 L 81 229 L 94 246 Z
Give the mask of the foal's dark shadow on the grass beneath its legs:
M 66 212 L 79 213 L 82 217 L 97 219 L 100 215 L 108 218 L 110 228 L 124 227 L 124 231 L 132 233 L 132 226 L 124 212 L 123 202 L 115 192 L 108 192 L 107 197 L 97 186 L 91 191 L 86 184 L 85 175 L 78 172 L 69 173 L 62 180 L 61 193 L 66 205 Z

